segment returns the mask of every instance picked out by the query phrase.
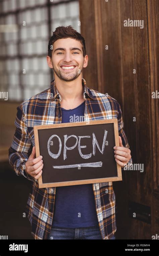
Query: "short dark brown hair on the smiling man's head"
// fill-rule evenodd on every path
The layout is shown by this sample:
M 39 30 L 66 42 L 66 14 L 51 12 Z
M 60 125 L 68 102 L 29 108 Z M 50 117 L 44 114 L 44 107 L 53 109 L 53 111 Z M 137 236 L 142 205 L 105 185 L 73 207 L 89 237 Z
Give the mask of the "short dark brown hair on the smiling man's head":
M 72 26 L 67 26 L 67 27 L 59 26 L 56 28 L 56 30 L 53 32 L 53 34 L 49 40 L 48 56 L 50 58 L 52 57 L 53 50 L 51 50 L 51 45 L 53 45 L 56 40 L 61 39 L 61 38 L 69 38 L 69 37 L 76 39 L 82 43 L 83 56 L 85 57 L 85 55 L 86 55 L 85 39 L 80 33 L 78 33 L 75 29 L 73 29 Z

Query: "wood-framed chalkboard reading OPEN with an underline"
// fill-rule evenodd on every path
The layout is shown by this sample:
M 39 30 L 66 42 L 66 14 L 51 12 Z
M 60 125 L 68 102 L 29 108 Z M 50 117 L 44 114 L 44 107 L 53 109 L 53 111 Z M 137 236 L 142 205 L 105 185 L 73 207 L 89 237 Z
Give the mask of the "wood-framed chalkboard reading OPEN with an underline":
M 34 126 L 34 136 L 44 163 L 39 188 L 122 180 L 117 119 Z

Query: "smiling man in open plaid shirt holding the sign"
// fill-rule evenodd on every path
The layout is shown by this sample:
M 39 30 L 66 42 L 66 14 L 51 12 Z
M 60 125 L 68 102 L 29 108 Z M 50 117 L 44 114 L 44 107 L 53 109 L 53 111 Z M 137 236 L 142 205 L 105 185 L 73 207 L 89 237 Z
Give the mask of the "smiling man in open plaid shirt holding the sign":
M 56 28 L 48 44 L 47 62 L 55 79 L 49 89 L 17 107 L 9 149 L 16 174 L 33 182 L 26 206 L 32 235 L 35 239 L 115 239 L 112 182 L 39 189 L 43 160 L 35 154 L 35 125 L 70 122 L 74 114 L 84 116 L 84 121 L 117 118 L 120 146 L 114 150 L 115 161 L 122 168 L 132 162 L 119 103 L 88 88 L 82 78 L 88 55 L 81 34 L 71 26 Z

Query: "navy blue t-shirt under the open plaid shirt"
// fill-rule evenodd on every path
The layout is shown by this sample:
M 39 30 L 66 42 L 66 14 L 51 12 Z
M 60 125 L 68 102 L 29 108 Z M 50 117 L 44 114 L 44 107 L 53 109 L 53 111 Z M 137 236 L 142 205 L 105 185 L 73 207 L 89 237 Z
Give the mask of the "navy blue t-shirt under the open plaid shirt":
M 62 123 L 69 123 L 70 116 L 84 117 L 85 101 L 73 109 L 61 107 L 61 111 Z M 96 225 L 98 218 L 92 184 L 56 187 L 52 227 L 78 228 Z

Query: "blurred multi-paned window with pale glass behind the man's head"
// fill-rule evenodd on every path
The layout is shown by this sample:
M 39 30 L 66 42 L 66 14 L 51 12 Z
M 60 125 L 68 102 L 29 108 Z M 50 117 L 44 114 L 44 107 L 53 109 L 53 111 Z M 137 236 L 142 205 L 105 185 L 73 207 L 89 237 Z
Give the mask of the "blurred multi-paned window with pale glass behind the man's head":
M 48 41 L 58 26 L 78 26 L 78 0 L 0 2 L 0 91 L 22 101 L 49 88 L 53 70 L 46 62 Z

